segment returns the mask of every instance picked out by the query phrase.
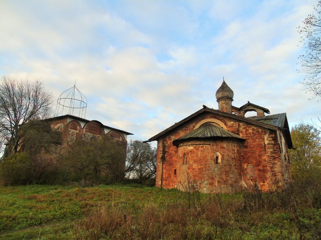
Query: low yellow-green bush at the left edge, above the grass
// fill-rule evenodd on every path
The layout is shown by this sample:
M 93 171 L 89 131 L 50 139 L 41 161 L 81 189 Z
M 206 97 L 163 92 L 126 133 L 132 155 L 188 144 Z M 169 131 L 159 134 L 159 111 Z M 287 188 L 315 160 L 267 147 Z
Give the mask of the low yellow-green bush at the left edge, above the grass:
M 31 162 L 27 153 L 15 153 L 0 162 L 0 185 L 23 185 L 31 182 Z

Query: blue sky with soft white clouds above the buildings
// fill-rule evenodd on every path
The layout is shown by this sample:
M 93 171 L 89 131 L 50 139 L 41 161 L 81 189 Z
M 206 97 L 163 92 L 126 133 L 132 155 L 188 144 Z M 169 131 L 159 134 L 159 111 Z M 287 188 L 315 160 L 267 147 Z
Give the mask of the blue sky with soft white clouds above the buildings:
M 203 104 L 218 109 L 223 77 L 233 106 L 286 112 L 292 127 L 321 113 L 297 71 L 297 27 L 316 4 L 1 0 L 0 74 L 41 79 L 55 99 L 76 80 L 85 118 L 134 133 L 128 140 L 147 140 Z

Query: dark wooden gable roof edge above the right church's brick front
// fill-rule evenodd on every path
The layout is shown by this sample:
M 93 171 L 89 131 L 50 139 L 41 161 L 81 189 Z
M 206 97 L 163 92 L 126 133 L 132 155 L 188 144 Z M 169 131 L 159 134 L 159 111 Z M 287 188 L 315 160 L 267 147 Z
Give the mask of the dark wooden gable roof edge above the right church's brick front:
M 251 125 L 256 125 L 256 126 L 268 128 L 268 129 L 271 129 L 271 130 L 278 130 L 277 126 L 273 126 L 273 125 L 270 125 L 270 124 L 259 122 L 259 121 L 253 120 L 251 118 L 246 118 L 246 117 L 238 116 L 238 115 L 235 115 L 235 114 L 222 112 L 220 110 L 214 110 L 213 108 L 208 108 L 205 105 L 203 105 L 202 109 L 198 110 L 197 112 L 193 113 L 192 115 L 184 118 L 183 120 L 181 120 L 178 123 L 170 126 L 169 128 L 167 128 L 164 131 L 156 134 L 155 136 L 151 137 L 150 139 L 148 139 L 148 140 L 146 140 L 144 142 L 155 141 L 155 140 L 159 139 L 162 135 L 174 130 L 175 128 L 181 126 L 182 124 L 186 123 L 187 121 L 193 119 L 196 116 L 199 116 L 200 114 L 202 114 L 204 112 L 215 113 L 215 114 L 220 115 L 220 116 L 228 117 L 228 118 L 231 118 L 231 119 L 235 119 L 235 120 L 238 120 L 238 121 L 241 121 L 241 122 L 246 122 L 246 123 L 251 124 Z

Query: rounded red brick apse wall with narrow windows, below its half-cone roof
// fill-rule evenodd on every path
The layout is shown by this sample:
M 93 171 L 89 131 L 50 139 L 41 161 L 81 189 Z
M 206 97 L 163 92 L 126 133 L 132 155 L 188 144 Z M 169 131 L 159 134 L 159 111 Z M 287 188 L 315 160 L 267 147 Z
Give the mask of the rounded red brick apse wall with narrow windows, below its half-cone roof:
M 240 163 L 240 140 L 202 140 L 182 142 L 178 146 L 177 185 L 182 188 L 187 175 L 197 180 L 205 193 L 228 193 L 242 189 Z M 216 164 L 215 154 L 219 152 L 221 162 Z M 183 156 L 186 154 L 186 164 Z M 174 174 L 174 172 L 168 172 Z M 168 174 L 164 173 L 164 185 Z

